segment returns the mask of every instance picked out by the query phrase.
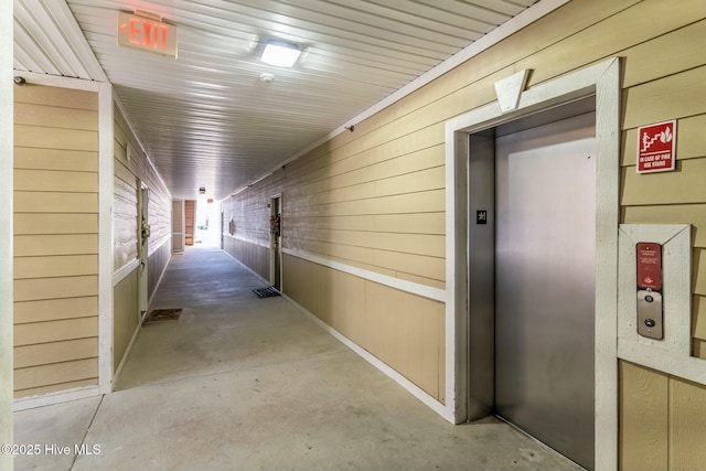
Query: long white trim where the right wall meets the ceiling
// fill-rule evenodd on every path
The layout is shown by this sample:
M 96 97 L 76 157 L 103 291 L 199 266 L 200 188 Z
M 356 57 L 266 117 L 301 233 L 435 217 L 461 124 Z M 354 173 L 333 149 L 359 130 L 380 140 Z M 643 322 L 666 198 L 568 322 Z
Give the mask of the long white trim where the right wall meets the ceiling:
M 400 99 L 405 98 L 407 95 L 411 95 L 413 93 L 415 93 L 419 88 L 421 88 L 425 85 L 429 84 L 430 82 L 439 78 L 441 75 L 446 74 L 447 72 L 451 71 L 452 68 L 458 67 L 459 65 L 461 65 L 462 63 L 467 62 L 468 60 L 477 56 L 478 54 L 482 53 L 483 51 L 489 50 L 490 47 L 494 46 L 499 42 L 512 36 L 517 31 L 520 31 L 523 28 L 530 25 L 531 23 L 534 23 L 535 21 L 539 20 L 541 18 L 546 17 L 547 14 L 549 14 L 554 10 L 558 9 L 559 7 L 568 3 L 569 1 L 570 0 L 542 0 L 541 2 L 537 2 L 537 3 L 533 4 L 528 9 L 526 9 L 523 12 L 521 12 L 520 14 L 517 14 L 516 17 L 511 18 L 510 20 L 507 20 L 506 22 L 504 22 L 500 26 L 495 28 L 494 30 L 492 30 L 488 34 L 481 36 L 479 40 L 474 41 L 473 43 L 468 45 L 466 49 L 463 49 L 460 52 L 453 54 L 451 57 L 447 58 L 446 61 L 443 61 L 442 63 L 440 63 L 436 67 L 430 68 L 428 72 L 426 72 L 425 74 L 420 75 L 415 81 L 410 82 L 409 84 L 407 84 L 404 87 L 399 88 L 397 92 L 391 94 L 389 96 L 385 97 L 384 99 L 382 99 L 377 104 L 373 105 L 372 107 L 370 107 L 365 111 L 361 113 L 360 115 L 357 115 L 354 118 L 350 119 L 349 121 L 346 121 L 345 124 L 341 125 L 336 129 L 332 130 L 331 132 L 329 132 L 323 138 L 319 139 L 318 141 L 313 142 L 312 144 L 301 149 L 299 152 L 295 153 L 292 157 L 290 157 L 286 161 L 280 162 L 279 164 L 274 167 L 270 171 L 268 171 L 268 172 L 264 173 L 261 176 L 255 179 L 249 184 L 237 189 L 236 191 L 234 191 L 231 194 L 231 196 L 234 196 L 234 195 L 240 193 L 242 191 L 245 191 L 248 186 L 259 182 L 260 180 L 271 175 L 277 170 L 281 169 L 282 165 L 286 165 L 289 162 L 292 162 L 292 161 L 299 159 L 301 156 L 303 156 L 307 152 L 318 148 L 322 143 L 330 141 L 331 139 L 333 139 L 334 137 L 339 136 L 340 133 L 347 132 L 347 128 L 350 128 L 351 126 L 357 125 L 359 122 L 361 122 L 361 121 L 370 118 L 371 116 L 382 111 L 383 109 L 387 108 L 388 106 L 394 105 L 395 103 L 397 103 Z

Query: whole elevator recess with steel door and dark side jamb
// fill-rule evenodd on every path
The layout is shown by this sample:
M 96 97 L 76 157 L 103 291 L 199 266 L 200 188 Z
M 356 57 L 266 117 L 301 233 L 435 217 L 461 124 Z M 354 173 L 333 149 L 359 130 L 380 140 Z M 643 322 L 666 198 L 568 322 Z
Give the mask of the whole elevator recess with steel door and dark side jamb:
M 469 135 L 469 419 L 593 469 L 596 104 Z

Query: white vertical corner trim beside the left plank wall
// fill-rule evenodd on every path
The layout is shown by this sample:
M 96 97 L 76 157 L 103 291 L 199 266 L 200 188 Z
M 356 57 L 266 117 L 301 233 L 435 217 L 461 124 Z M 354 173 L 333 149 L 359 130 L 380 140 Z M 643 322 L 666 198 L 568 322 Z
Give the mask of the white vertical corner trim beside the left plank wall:
M 113 86 L 98 92 L 98 384 L 113 390 L 113 199 L 114 132 Z

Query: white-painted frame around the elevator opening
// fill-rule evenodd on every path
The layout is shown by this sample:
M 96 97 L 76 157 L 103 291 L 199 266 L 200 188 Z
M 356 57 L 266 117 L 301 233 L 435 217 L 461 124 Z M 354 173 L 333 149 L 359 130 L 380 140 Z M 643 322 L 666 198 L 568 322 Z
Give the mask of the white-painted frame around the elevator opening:
M 595 467 L 618 464 L 618 222 L 620 60 L 610 58 L 520 93 L 517 107 L 493 101 L 446 124 L 447 304 L 446 416 L 469 417 L 468 392 L 468 157 L 469 133 L 596 96 L 596 343 Z

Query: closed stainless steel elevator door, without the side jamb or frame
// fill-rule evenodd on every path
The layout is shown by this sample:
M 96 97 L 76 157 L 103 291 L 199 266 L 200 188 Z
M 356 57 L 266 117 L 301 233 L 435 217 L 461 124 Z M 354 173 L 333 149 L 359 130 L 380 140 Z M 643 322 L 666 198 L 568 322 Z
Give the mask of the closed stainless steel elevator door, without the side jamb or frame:
M 495 408 L 593 467 L 595 114 L 495 138 Z M 507 131 L 505 131 L 507 132 Z

